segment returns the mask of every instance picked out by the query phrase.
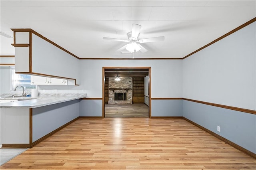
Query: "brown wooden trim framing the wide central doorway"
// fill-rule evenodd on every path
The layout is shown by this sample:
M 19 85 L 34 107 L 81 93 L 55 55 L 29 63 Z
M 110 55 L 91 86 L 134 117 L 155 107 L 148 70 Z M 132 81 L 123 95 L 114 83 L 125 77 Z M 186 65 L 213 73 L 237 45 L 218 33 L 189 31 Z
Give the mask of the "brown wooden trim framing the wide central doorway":
M 149 108 L 148 116 L 151 118 L 151 67 L 102 67 L 102 118 L 105 118 L 105 69 L 148 69 L 149 84 L 148 84 L 148 95 L 149 95 Z

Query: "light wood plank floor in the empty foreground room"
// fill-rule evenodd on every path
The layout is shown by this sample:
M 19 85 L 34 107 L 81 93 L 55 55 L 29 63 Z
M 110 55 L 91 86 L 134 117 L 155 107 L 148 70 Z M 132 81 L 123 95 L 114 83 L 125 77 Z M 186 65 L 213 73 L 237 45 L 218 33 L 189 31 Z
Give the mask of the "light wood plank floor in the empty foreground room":
M 0 169 L 256 169 L 184 119 L 78 119 Z

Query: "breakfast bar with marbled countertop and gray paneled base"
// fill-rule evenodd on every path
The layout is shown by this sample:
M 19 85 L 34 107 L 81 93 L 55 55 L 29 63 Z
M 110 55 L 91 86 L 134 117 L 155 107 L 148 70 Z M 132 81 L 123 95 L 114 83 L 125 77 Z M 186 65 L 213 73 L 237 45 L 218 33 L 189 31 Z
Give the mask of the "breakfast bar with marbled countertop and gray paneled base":
M 86 94 L 42 94 L 0 104 L 2 147 L 33 147 L 79 118 Z M 1 96 L 0 99 L 7 99 Z

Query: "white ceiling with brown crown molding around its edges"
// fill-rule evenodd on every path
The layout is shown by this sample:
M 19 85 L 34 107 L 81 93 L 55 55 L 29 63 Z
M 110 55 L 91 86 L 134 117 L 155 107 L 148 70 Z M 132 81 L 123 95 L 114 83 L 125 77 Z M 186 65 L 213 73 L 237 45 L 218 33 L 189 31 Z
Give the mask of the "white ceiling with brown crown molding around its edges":
M 256 17 L 256 0 L 9 0 L 0 1 L 0 31 L 31 28 L 80 58 L 131 58 L 116 51 L 132 24 L 142 26 L 148 52 L 135 58 L 182 58 Z M 0 36 L 0 55 L 14 55 L 12 38 Z

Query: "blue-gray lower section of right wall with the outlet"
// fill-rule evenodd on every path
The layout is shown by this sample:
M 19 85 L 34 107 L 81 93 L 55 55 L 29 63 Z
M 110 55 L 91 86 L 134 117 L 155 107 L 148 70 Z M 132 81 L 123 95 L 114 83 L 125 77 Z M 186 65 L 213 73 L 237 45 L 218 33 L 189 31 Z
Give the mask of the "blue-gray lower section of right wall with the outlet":
M 183 117 L 256 153 L 256 115 L 183 100 Z

